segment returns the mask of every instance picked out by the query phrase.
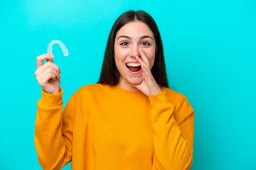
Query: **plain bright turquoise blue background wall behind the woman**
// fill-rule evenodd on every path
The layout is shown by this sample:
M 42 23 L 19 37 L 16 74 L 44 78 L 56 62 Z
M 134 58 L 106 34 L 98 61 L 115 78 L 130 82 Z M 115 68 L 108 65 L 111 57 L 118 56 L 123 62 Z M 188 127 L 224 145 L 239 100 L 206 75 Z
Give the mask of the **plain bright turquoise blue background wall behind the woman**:
M 170 83 L 195 109 L 191 170 L 256 169 L 255 0 L 1 0 L 1 170 L 41 169 L 34 148 L 36 56 L 53 39 L 69 49 L 64 57 L 53 46 L 66 103 L 97 82 L 111 26 L 131 9 L 157 22 Z

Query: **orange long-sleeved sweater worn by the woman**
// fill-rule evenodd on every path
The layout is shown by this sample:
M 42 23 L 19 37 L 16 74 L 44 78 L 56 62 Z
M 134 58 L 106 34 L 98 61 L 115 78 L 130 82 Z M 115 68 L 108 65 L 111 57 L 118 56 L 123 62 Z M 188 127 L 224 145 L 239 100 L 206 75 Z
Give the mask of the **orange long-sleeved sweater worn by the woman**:
M 194 111 L 162 87 L 147 97 L 120 87 L 86 85 L 63 110 L 58 94 L 38 100 L 35 146 L 44 170 L 184 170 L 192 164 Z

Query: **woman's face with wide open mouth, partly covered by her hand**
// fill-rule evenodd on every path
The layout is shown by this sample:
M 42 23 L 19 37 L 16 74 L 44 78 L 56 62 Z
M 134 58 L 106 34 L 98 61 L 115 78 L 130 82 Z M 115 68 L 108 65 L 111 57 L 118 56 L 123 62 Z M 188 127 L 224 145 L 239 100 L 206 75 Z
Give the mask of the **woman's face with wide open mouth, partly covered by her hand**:
M 137 91 L 130 84 L 137 85 L 142 82 L 141 66 L 135 59 L 136 56 L 141 58 L 140 48 L 144 50 L 152 68 L 156 49 L 153 32 L 144 22 L 128 22 L 117 31 L 114 45 L 115 64 L 120 73 L 117 85 L 123 89 Z

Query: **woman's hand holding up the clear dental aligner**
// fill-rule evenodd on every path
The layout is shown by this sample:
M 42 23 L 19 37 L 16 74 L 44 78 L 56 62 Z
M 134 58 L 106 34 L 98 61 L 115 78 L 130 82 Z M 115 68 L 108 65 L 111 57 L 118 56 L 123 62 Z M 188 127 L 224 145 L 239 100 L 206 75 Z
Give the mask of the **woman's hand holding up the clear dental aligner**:
M 53 55 L 42 54 L 36 57 L 37 70 L 35 71 L 36 79 L 39 85 L 46 93 L 56 94 L 61 90 L 61 70 L 58 65 L 54 64 Z M 43 61 L 46 59 L 46 63 Z

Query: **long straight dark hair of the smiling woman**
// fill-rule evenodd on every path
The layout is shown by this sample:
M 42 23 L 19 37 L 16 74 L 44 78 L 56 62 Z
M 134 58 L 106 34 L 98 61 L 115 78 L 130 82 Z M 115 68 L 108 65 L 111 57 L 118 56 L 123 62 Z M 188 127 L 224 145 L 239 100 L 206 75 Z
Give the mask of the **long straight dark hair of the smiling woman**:
M 153 32 L 155 42 L 156 42 L 156 50 L 155 50 L 155 61 L 154 65 L 151 69 L 152 75 L 155 78 L 157 84 L 161 86 L 168 87 L 167 75 L 166 75 L 166 67 L 164 62 L 164 50 L 162 45 L 162 39 L 157 28 L 157 24 L 155 20 L 144 11 L 127 11 L 120 15 L 115 21 L 110 34 L 108 36 L 108 42 L 104 54 L 101 75 L 98 83 L 101 84 L 109 84 L 109 85 L 117 85 L 120 78 L 120 73 L 117 70 L 114 60 L 114 44 L 115 37 L 117 31 L 132 21 L 141 21 L 148 25 L 150 30 Z

